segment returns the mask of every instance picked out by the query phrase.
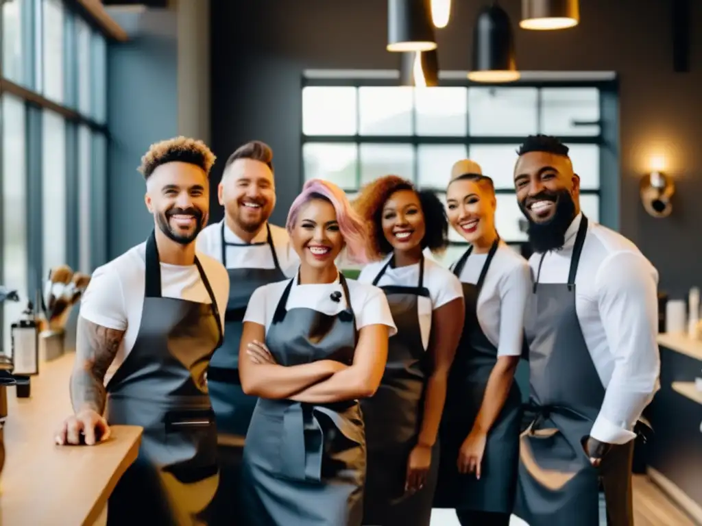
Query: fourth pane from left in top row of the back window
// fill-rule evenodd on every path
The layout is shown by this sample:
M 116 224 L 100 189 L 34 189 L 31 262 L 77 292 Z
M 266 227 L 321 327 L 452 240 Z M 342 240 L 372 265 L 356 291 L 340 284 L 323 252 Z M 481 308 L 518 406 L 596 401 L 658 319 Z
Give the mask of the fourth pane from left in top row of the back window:
M 470 135 L 521 137 L 537 132 L 536 88 L 468 88 Z

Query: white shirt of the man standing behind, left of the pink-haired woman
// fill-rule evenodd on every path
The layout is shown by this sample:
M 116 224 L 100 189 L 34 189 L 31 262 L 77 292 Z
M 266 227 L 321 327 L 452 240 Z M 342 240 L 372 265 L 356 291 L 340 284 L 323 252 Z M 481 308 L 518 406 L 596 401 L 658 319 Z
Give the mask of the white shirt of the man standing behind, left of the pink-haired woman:
M 220 261 L 222 259 L 222 223 L 224 220 L 208 225 L 197 236 L 197 250 L 200 250 L 209 257 Z M 275 248 L 275 255 L 278 257 L 278 264 L 283 274 L 290 278 L 295 276 L 300 258 L 290 243 L 290 236 L 286 229 L 270 225 L 270 235 Z M 237 237 L 229 227 L 224 228 L 225 243 L 238 243 L 244 245 L 245 242 Z M 273 255 L 270 246 L 267 244 L 268 231 L 264 227 L 253 238 L 252 243 L 265 243 L 264 245 L 251 244 L 246 246 L 227 245 L 225 256 L 226 262 L 222 264 L 227 269 L 274 269 Z

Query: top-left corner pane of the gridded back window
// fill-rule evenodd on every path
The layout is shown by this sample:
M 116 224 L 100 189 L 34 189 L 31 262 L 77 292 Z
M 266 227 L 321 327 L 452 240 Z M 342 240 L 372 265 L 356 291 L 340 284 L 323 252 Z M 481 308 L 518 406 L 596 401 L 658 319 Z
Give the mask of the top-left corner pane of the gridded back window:
M 305 135 L 355 135 L 356 88 L 303 88 Z

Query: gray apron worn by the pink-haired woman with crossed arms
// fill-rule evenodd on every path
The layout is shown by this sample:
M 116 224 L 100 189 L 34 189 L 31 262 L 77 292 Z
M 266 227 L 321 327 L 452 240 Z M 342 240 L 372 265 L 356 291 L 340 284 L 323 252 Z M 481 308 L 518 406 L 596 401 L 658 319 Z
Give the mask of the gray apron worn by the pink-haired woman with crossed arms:
M 279 365 L 352 364 L 356 322 L 341 274 L 339 281 L 347 308 L 336 316 L 307 308 L 286 311 L 290 281 L 266 334 Z M 241 471 L 247 526 L 360 526 L 366 440 L 358 400 L 311 404 L 259 398 Z

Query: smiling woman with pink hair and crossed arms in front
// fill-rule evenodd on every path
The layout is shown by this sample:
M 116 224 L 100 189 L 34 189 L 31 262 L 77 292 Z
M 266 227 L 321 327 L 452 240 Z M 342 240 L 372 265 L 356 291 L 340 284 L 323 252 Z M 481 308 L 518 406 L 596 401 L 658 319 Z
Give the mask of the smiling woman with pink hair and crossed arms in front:
M 343 248 L 368 257 L 366 224 L 343 191 L 308 181 L 286 228 L 298 275 L 253 292 L 239 348 L 241 386 L 259 397 L 244 446 L 244 524 L 361 526 L 359 398 L 378 389 L 397 329 L 383 292 L 336 268 Z

